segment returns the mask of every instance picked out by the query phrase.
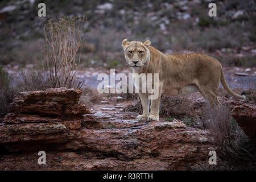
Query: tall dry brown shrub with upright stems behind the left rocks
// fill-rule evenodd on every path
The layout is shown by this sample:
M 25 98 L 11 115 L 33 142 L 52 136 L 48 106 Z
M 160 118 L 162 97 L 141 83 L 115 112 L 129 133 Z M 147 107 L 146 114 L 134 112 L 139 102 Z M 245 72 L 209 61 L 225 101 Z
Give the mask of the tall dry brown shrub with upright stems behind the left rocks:
M 58 22 L 49 19 L 44 26 L 46 45 L 43 56 L 52 88 L 80 89 L 84 83 L 75 79 L 80 65 L 81 45 L 85 39 L 85 33 L 80 30 L 81 21 L 75 17 L 61 18 Z

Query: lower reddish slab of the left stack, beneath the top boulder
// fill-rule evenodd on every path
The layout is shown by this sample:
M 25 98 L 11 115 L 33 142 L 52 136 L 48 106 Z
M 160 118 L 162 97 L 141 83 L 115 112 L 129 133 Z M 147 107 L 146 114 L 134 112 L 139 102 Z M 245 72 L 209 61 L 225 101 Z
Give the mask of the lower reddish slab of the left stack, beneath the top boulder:
M 71 130 L 79 131 L 78 129 L 80 129 L 80 127 L 81 121 L 2 125 L 0 126 L 0 143 L 46 141 L 53 139 L 56 139 L 54 142 L 63 142 L 67 139 L 74 139 L 77 137 L 77 132 L 76 136 L 69 132 Z M 20 146 L 23 145 L 25 144 L 20 143 Z M 27 150 L 33 150 L 32 146 L 28 145 L 27 147 Z M 20 148 L 15 148 L 14 151 L 20 151 Z

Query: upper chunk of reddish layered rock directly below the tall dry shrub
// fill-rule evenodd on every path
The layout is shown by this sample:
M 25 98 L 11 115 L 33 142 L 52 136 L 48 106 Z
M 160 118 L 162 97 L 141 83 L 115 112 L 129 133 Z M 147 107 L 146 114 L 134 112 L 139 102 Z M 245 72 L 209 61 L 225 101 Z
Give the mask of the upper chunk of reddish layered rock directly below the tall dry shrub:
M 55 117 L 89 114 L 84 105 L 78 104 L 80 96 L 81 90 L 68 88 L 21 92 L 14 96 L 14 101 L 10 105 L 11 117 L 18 121 L 17 114 Z M 3 121 L 12 122 L 10 114 Z

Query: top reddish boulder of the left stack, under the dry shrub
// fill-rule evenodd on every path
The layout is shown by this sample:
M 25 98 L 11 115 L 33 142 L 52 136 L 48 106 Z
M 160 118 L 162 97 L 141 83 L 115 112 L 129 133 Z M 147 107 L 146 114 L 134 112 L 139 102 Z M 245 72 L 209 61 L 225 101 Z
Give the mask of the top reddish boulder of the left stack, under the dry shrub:
M 81 91 L 69 88 L 21 92 L 14 96 L 5 123 L 60 122 L 82 118 L 90 111 L 78 104 Z

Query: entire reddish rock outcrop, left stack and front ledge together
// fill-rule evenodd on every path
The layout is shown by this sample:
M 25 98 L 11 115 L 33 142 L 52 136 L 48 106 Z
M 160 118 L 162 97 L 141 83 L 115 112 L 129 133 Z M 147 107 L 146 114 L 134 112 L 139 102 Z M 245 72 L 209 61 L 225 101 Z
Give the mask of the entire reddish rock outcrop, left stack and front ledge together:
M 80 95 L 67 88 L 17 94 L 0 123 L 0 143 L 9 151 L 0 169 L 181 170 L 208 163 L 214 142 L 207 130 L 176 119 L 139 122 L 137 113 L 121 111 L 127 104 L 101 104 L 90 113 L 78 104 Z M 37 163 L 40 150 L 46 165 Z

